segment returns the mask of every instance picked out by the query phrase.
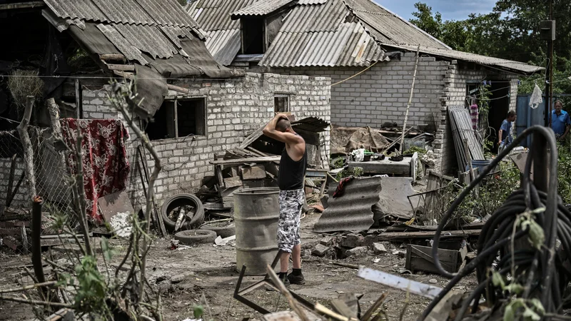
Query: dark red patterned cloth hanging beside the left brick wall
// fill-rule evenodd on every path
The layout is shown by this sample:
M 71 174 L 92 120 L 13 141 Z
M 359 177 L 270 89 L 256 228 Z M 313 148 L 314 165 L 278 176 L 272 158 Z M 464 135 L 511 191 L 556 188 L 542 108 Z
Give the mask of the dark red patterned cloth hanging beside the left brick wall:
M 66 145 L 73 151 L 77 130 L 81 130 L 83 152 L 84 190 L 87 215 L 100 224 L 103 221 L 97 210 L 97 200 L 105 195 L 123 190 L 130 165 L 127 159 L 125 139 L 128 131 L 118 119 L 61 119 L 61 132 Z M 68 165 L 76 175 L 76 155 L 70 152 Z

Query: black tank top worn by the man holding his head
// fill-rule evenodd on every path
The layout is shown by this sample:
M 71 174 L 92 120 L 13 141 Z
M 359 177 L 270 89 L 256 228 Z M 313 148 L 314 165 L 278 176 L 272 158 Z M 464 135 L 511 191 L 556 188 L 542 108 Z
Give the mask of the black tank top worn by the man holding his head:
M 299 161 L 293 161 L 288 151 L 283 148 L 278 173 L 278 186 L 280 190 L 300 190 L 303 188 L 305 168 L 308 165 L 308 148 L 305 146 L 303 156 Z

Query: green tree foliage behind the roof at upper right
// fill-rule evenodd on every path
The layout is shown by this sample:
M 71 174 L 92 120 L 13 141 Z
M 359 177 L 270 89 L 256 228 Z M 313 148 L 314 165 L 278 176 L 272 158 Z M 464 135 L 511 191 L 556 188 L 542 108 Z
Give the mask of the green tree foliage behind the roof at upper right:
M 540 37 L 540 21 L 547 20 L 549 2 L 498 0 L 489 14 L 470 14 L 465 20 L 443 21 L 427 4 L 415 4 L 410 22 L 459 51 L 547 66 L 547 42 Z M 571 6 L 568 0 L 552 0 L 556 39 L 554 44 L 554 93 L 571 93 Z M 530 93 L 534 81 L 544 86 L 542 75 L 532 76 L 520 87 Z M 557 82 L 555 82 L 557 81 Z

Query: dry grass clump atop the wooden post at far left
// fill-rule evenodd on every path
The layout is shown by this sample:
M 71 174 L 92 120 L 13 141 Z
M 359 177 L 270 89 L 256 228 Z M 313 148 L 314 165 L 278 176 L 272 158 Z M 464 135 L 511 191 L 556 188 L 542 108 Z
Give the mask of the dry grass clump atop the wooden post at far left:
M 26 96 L 41 96 L 44 90 L 44 81 L 38 76 L 38 71 L 14 69 L 8 78 L 8 88 L 16 104 L 23 108 L 26 105 Z

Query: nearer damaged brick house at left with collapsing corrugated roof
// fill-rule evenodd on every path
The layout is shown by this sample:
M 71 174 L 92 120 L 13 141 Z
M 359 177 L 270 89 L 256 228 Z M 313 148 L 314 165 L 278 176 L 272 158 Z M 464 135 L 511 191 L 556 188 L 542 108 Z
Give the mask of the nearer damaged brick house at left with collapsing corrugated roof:
M 91 164 L 94 172 L 113 167 L 99 178 L 94 176 L 87 195 L 91 217 L 98 219 L 98 198 L 127 190 L 137 208 L 142 196 L 138 166 L 143 162 L 138 157 L 138 142 L 107 99 L 112 78 L 120 83 L 133 79 L 142 99 L 136 121 L 163 163 L 155 184 L 159 205 L 170 195 L 198 190 L 203 178 L 214 173 L 211 161 L 215 155 L 237 148 L 277 111 L 289 112 L 298 120 L 313 116 L 322 123 L 330 121 L 329 78 L 247 73 L 222 66 L 206 48 L 206 33 L 175 0 L 0 1 L 0 16 L 2 39 L 10 44 L 0 52 L 3 200 L 23 172 L 15 131 L 23 105 L 11 79 L 37 83 L 32 93 L 31 127 L 39 128 L 34 136 L 38 141 L 47 142 L 41 146 L 50 145 L 46 101 L 54 98 L 64 141 L 73 141 L 74 128 L 79 126 L 84 135 L 93 138 L 84 141 L 84 148 L 107 146 L 102 153 L 117 153 L 121 158 Z M 27 94 L 22 95 L 25 98 Z M 113 137 L 107 141 L 109 136 Z M 315 167 L 327 166 L 328 141 L 328 132 L 316 141 L 320 148 L 313 156 Z M 43 153 L 34 153 L 36 190 L 47 201 L 66 203 L 69 190 L 63 177 L 67 168 L 55 165 L 61 165 L 55 150 L 49 146 L 46 153 L 51 153 L 50 159 L 56 163 L 46 162 Z M 142 158 L 152 168 L 151 156 Z M 101 189 L 97 181 L 101 178 L 113 182 L 108 190 Z M 26 186 L 26 181 L 21 183 L 11 202 L 2 208 L 27 206 Z

